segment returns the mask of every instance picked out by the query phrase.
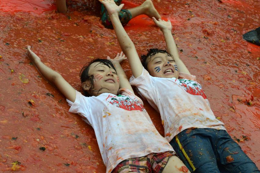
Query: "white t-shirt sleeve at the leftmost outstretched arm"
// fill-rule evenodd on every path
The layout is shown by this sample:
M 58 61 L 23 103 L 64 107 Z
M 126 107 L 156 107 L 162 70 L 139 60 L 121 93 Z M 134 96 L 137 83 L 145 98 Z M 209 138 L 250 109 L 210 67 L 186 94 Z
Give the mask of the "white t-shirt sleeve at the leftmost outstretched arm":
M 71 102 L 66 99 L 70 109 L 69 112 L 79 114 L 86 123 L 90 124 L 89 115 L 90 115 L 90 104 L 89 97 L 83 96 L 80 92 L 76 91 L 76 99 L 75 102 Z M 91 125 L 91 124 L 90 124 Z

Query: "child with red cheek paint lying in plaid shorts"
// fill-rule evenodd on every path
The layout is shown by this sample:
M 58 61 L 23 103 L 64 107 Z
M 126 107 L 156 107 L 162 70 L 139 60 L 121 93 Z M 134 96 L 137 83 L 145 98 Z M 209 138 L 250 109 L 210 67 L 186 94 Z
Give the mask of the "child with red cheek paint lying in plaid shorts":
M 30 48 L 27 47 L 27 56 L 67 98 L 69 112 L 80 114 L 93 127 L 106 173 L 188 172 L 152 124 L 141 99 L 134 95 L 120 66 L 126 59 L 123 52 L 114 59 L 94 59 L 82 68 L 83 96 L 44 65 Z

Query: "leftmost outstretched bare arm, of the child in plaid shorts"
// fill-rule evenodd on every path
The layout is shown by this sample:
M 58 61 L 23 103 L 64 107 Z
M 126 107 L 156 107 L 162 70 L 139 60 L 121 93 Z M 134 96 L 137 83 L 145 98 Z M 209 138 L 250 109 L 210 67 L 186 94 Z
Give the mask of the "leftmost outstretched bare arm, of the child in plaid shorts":
M 56 71 L 47 67 L 42 63 L 41 59 L 31 51 L 31 46 L 27 46 L 27 56 L 34 63 L 38 71 L 42 76 L 51 84 L 55 85 L 60 92 L 71 102 L 75 102 L 76 99 L 76 90 L 67 82 L 65 79 Z

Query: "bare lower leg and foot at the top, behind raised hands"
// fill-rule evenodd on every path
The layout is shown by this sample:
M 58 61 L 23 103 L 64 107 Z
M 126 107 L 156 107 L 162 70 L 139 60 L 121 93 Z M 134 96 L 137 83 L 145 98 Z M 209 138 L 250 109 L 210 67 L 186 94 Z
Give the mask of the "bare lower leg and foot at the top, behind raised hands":
M 146 0 L 142 5 L 128 10 L 130 11 L 132 18 L 141 14 L 145 14 L 150 18 L 155 17 L 157 20 L 161 18 L 151 0 Z

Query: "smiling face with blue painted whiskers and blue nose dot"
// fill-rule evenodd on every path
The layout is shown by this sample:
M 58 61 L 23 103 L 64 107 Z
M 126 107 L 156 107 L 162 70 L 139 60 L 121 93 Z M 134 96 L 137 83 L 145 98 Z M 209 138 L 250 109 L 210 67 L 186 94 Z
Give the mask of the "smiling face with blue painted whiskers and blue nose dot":
M 148 72 L 153 77 L 178 79 L 179 72 L 173 57 L 166 53 L 156 53 L 147 64 Z

